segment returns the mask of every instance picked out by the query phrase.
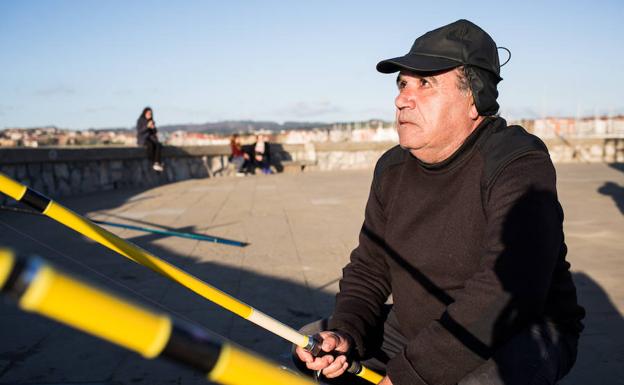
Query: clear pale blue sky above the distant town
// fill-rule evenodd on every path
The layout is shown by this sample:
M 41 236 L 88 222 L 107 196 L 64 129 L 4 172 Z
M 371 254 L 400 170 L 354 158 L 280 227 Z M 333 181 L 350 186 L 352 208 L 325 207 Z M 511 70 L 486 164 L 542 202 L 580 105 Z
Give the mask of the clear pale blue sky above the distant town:
M 381 59 L 460 18 L 512 51 L 501 113 L 624 113 L 624 1 L 0 0 L 0 128 L 393 119 Z M 505 53 L 501 53 L 504 60 Z

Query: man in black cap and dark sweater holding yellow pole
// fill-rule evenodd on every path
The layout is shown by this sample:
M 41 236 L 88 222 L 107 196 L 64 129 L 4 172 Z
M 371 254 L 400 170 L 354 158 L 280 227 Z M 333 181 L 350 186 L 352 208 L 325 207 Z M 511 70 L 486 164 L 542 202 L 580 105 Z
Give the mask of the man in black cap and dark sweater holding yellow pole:
M 302 329 L 330 354 L 296 356 L 336 383 L 356 383 L 353 357 L 383 385 L 554 384 L 584 310 L 548 151 L 495 116 L 496 44 L 459 20 L 377 70 L 399 72 L 400 146 L 375 167 L 333 315 Z

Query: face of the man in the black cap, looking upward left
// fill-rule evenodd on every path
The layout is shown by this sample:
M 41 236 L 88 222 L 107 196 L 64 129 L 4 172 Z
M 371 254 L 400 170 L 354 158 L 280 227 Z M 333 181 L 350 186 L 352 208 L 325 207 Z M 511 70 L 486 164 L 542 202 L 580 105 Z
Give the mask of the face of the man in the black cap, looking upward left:
M 458 88 L 457 76 L 456 69 L 431 76 L 399 74 L 399 143 L 422 161 L 448 158 L 480 122 L 472 96 Z

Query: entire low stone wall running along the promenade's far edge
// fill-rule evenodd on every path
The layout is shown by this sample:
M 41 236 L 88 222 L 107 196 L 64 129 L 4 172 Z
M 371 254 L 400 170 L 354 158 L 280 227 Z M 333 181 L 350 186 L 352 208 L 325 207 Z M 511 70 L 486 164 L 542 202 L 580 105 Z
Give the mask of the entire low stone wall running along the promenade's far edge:
M 372 168 L 393 143 L 274 144 L 272 153 L 284 164 L 316 170 Z M 624 162 L 624 139 L 546 140 L 554 162 Z M 165 147 L 165 172 L 156 173 L 143 148 L 4 148 L 0 171 L 33 189 L 58 197 L 149 187 L 231 174 L 228 146 Z M 0 204 L 9 199 L 0 194 Z

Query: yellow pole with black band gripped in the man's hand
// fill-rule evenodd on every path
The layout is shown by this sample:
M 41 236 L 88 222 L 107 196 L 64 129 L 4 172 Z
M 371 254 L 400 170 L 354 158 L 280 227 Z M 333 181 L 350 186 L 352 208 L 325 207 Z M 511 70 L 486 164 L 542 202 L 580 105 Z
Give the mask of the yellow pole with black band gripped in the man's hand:
M 313 336 L 306 336 L 288 325 L 230 296 L 214 286 L 200 280 L 184 270 L 154 256 L 140 247 L 103 229 L 88 219 L 63 207 L 52 199 L 9 178 L 0 172 L 0 192 L 41 212 L 49 218 L 71 228 L 85 237 L 108 247 L 126 258 L 146 266 L 158 274 L 167 277 L 232 313 L 255 323 L 256 325 L 306 349 L 313 355 L 321 353 L 321 343 Z M 352 361 L 348 371 L 373 384 L 382 380 L 382 376 Z

